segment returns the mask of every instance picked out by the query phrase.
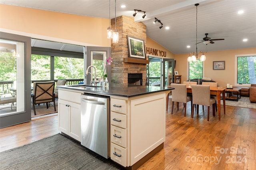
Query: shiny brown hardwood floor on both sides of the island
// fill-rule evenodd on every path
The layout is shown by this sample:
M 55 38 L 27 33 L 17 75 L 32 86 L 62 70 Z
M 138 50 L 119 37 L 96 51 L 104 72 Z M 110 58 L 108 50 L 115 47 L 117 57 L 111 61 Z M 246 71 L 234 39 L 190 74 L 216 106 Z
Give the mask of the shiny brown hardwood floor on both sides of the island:
M 190 104 L 184 117 L 183 104 L 166 112 L 164 149 L 139 170 L 255 170 L 256 109 L 226 106 L 221 121 L 212 116 L 207 121 L 207 107 L 190 117 Z M 0 129 L 0 151 L 19 147 L 59 133 L 58 117 L 46 117 Z

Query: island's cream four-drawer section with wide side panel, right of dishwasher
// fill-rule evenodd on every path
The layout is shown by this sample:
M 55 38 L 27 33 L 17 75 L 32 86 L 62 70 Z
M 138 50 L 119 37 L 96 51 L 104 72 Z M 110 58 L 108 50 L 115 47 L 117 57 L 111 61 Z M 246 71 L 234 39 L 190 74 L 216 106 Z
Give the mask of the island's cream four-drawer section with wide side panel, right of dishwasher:
M 165 141 L 166 93 L 116 98 L 110 99 L 110 157 L 132 166 Z

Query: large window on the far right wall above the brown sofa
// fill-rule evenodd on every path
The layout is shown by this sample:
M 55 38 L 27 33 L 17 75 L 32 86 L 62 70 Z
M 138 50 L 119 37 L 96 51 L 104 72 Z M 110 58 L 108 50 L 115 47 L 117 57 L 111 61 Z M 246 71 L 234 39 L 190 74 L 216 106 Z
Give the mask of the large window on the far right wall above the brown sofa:
M 256 54 L 235 55 L 235 85 L 256 84 Z

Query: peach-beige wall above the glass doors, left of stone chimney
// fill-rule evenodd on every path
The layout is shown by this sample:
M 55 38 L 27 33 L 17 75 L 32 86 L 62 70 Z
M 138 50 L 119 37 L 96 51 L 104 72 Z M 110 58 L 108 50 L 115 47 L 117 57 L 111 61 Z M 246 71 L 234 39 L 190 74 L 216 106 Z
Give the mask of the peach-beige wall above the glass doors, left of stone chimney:
M 32 38 L 110 47 L 108 26 L 107 19 L 0 4 L 1 31 Z

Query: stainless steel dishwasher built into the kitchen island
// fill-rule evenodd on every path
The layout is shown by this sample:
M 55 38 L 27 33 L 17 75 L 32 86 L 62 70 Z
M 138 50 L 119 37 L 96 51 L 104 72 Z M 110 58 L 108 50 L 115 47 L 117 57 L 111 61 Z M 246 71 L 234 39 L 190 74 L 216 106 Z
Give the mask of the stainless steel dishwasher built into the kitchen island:
M 110 156 L 110 98 L 81 95 L 81 145 L 108 158 Z

